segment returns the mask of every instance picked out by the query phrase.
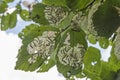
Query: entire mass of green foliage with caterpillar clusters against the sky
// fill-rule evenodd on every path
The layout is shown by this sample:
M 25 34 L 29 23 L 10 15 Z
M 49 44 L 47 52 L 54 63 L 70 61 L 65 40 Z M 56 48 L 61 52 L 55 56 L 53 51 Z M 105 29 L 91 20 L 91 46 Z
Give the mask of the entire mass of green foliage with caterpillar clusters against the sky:
M 22 40 L 15 69 L 46 72 L 53 66 L 68 80 L 119 80 L 120 1 L 119 0 L 37 0 L 8 13 L 8 3 L 0 1 L 0 29 L 14 28 L 17 15 L 33 21 L 18 36 Z M 108 61 L 99 49 L 112 46 Z

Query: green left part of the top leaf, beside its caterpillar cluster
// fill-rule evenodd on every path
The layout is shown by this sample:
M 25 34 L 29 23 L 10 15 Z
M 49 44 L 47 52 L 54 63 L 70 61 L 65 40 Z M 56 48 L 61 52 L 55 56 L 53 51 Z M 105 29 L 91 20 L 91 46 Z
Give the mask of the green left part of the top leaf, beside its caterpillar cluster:
M 36 23 L 39 23 L 39 24 L 43 24 L 43 25 L 49 24 L 49 22 L 45 18 L 45 14 L 44 14 L 45 7 L 46 7 L 46 5 L 41 4 L 41 3 L 38 3 L 33 6 L 33 10 L 31 13 L 31 18 L 33 21 L 35 21 Z

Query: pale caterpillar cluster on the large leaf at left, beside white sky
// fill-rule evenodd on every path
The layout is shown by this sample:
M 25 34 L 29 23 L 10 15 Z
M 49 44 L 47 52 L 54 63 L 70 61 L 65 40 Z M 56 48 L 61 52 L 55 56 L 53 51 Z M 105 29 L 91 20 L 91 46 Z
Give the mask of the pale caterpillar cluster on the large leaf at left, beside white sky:
M 29 63 L 34 63 L 38 56 L 46 59 L 50 56 L 54 47 L 54 37 L 55 32 L 48 31 L 44 32 L 42 36 L 34 38 L 34 40 L 28 44 L 27 51 L 29 54 L 33 55 L 29 58 Z

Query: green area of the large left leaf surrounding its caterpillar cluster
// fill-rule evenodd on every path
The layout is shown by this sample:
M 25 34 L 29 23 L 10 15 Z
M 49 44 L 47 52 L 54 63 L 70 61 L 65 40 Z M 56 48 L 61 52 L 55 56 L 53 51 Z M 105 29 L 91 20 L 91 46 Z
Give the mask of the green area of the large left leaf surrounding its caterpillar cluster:
M 33 41 L 34 38 L 42 35 L 44 31 L 54 31 L 54 30 L 56 30 L 56 28 L 51 26 L 38 26 L 35 24 L 26 26 L 26 28 L 23 29 L 21 33 L 19 33 L 23 45 L 19 49 L 15 69 L 24 70 L 24 71 L 35 71 L 36 69 L 40 68 L 40 66 L 44 63 L 45 59 L 39 57 L 35 63 L 30 64 L 28 62 L 30 55 L 27 52 L 27 45 L 31 41 Z M 48 70 L 50 67 L 52 67 L 52 65 L 53 64 L 51 64 L 50 61 L 50 63 L 48 64 L 48 66 L 46 66 L 46 68 L 43 68 L 45 66 L 42 66 L 43 71 Z

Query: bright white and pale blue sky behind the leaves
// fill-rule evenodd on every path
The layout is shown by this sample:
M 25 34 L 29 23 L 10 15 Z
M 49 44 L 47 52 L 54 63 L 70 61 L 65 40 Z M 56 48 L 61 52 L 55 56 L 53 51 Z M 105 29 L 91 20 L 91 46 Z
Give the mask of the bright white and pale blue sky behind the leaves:
M 17 3 L 14 2 L 14 4 Z M 14 5 L 12 5 L 14 6 Z M 20 38 L 17 34 L 26 26 L 33 22 L 24 22 L 18 16 L 18 22 L 14 29 L 7 30 L 7 31 L 0 31 L 0 80 L 65 80 L 62 75 L 60 75 L 56 69 L 53 67 L 46 73 L 36 73 L 36 72 L 24 72 L 20 70 L 14 70 L 15 63 L 16 63 L 16 56 L 18 54 L 18 49 L 22 45 Z M 99 47 L 97 45 L 91 45 Z M 110 54 L 111 46 L 102 51 L 102 60 L 107 61 Z M 78 80 L 78 79 L 76 79 Z M 79 79 L 85 80 L 85 79 Z

